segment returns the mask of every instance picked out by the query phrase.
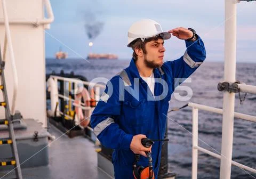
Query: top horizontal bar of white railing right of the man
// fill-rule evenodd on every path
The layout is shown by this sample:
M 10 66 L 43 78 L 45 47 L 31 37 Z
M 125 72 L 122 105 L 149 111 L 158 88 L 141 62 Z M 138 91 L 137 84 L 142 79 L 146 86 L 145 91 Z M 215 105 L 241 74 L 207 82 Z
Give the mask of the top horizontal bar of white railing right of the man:
M 188 106 L 195 107 L 197 109 L 202 109 L 202 110 L 209 111 L 209 112 L 219 113 L 220 115 L 223 114 L 223 109 L 213 108 L 213 107 L 209 107 L 207 105 L 196 104 L 196 103 L 190 102 L 190 103 L 188 103 Z M 235 112 L 235 118 L 244 119 L 244 120 L 248 120 L 248 121 L 252 121 L 252 122 L 256 123 L 256 116 L 245 115 L 243 113 Z

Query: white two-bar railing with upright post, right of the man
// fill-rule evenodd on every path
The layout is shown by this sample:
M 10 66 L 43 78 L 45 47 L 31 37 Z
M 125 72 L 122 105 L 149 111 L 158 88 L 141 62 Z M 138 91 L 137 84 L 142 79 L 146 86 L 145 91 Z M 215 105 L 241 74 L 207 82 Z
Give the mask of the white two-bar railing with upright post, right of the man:
M 192 127 L 192 133 L 193 133 L 193 147 L 192 147 L 192 179 L 197 178 L 197 164 L 198 164 L 198 150 L 204 153 L 209 154 L 212 157 L 221 159 L 221 156 L 217 153 L 211 152 L 209 150 L 206 150 L 202 147 L 198 146 L 198 109 L 204 110 L 204 111 L 210 111 L 214 113 L 219 113 L 223 115 L 223 110 L 218 108 L 209 107 L 207 105 L 202 104 L 196 104 L 196 103 L 188 103 L 188 106 L 192 108 L 192 116 L 193 116 L 193 127 Z M 235 118 L 249 120 L 254 123 L 256 123 L 256 117 L 250 116 L 250 115 L 244 115 L 243 113 L 235 112 L 234 115 Z M 239 168 L 246 169 L 252 173 L 256 173 L 256 169 L 239 164 L 236 161 L 231 161 L 232 165 L 235 165 Z

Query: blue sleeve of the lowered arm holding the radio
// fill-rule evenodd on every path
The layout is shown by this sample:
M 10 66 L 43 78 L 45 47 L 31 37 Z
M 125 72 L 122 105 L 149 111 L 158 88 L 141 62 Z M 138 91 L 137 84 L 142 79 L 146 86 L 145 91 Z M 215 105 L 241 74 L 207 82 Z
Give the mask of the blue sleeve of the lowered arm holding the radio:
M 121 114 L 122 102 L 119 100 L 119 79 L 112 78 L 93 110 L 91 126 L 99 141 L 107 148 L 129 150 L 133 135 L 119 128 L 116 120 Z M 113 93 L 108 95 L 113 87 Z M 109 93 L 110 94 L 110 93 Z

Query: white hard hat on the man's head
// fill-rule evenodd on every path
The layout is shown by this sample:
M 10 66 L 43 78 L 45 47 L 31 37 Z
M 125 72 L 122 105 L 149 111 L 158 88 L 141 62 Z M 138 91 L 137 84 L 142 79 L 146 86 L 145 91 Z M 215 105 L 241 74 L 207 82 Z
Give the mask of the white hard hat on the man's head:
M 131 43 L 137 38 L 141 38 L 142 42 L 144 42 L 145 38 L 154 37 L 159 34 L 161 34 L 164 40 L 171 38 L 171 34 L 163 32 L 163 29 L 158 22 L 151 19 L 142 19 L 133 23 L 130 27 L 128 31 L 127 47 L 131 47 Z

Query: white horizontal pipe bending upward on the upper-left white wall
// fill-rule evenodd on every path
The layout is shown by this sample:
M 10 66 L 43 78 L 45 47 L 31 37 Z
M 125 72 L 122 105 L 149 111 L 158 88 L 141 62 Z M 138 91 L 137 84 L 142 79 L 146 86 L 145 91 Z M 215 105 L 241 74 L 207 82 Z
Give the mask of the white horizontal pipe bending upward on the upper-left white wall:
M 33 25 L 48 25 L 54 21 L 54 15 L 52 11 L 52 6 L 50 3 L 50 0 L 43 0 L 45 3 L 46 7 L 46 12 L 48 14 L 47 19 L 42 19 L 42 20 L 28 20 L 28 19 L 12 19 L 9 21 L 10 24 L 20 24 L 20 25 L 26 25 L 26 24 L 33 24 Z M 4 21 L 0 21 L 0 23 L 4 23 Z

